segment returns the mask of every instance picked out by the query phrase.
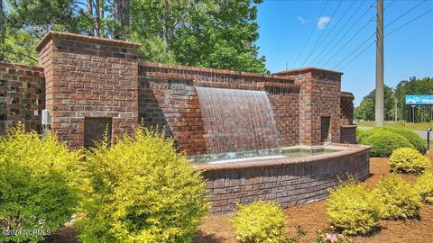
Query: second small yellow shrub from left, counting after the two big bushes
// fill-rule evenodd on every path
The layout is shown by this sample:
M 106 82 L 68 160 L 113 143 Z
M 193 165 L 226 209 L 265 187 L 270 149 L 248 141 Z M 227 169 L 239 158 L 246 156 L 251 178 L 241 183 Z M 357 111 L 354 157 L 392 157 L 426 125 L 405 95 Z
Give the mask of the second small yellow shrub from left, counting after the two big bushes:
M 366 234 L 379 225 L 379 205 L 363 184 L 349 177 L 329 192 L 327 215 L 347 235 Z

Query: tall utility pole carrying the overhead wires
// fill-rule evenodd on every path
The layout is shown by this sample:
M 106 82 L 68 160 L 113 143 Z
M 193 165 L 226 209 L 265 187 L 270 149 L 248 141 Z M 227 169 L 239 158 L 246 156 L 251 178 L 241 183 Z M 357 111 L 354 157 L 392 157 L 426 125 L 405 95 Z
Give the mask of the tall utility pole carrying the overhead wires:
M 383 126 L 383 0 L 377 0 L 376 16 L 376 127 Z

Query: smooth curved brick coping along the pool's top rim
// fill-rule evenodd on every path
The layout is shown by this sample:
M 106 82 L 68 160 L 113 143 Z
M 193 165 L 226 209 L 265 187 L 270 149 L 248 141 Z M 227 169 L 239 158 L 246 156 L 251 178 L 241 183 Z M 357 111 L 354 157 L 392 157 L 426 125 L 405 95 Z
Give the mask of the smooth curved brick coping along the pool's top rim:
M 366 146 L 366 145 L 344 144 L 344 143 L 328 143 L 326 147 L 345 148 L 345 149 L 341 151 L 330 152 L 326 154 L 314 155 L 309 157 L 288 157 L 288 158 L 234 162 L 234 163 L 224 163 L 224 164 L 207 164 L 207 165 L 197 165 L 194 167 L 198 170 L 205 172 L 205 171 L 254 168 L 254 167 L 263 167 L 263 166 L 282 166 L 286 164 L 299 164 L 299 163 L 307 163 L 313 161 L 317 162 L 321 160 L 327 160 L 330 158 L 338 158 L 338 157 L 345 157 L 348 155 L 355 155 L 358 153 L 363 153 L 366 150 L 370 150 L 371 148 L 370 146 Z

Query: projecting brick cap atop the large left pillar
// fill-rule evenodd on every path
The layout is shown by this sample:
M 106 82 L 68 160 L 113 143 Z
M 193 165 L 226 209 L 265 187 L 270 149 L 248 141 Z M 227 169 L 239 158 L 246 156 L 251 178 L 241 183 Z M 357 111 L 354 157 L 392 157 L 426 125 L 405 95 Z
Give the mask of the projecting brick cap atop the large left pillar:
M 108 44 L 110 46 L 117 46 L 122 48 L 139 48 L 141 46 L 140 43 L 130 42 L 126 40 L 113 40 L 113 39 L 106 39 L 106 38 L 100 38 L 100 37 L 94 37 L 94 36 L 87 36 L 87 35 L 80 35 L 80 34 L 74 34 L 69 32 L 59 32 L 59 31 L 49 31 L 41 41 L 36 45 L 36 50 L 41 51 L 43 47 L 52 39 L 58 38 L 58 39 L 67 39 L 67 40 L 79 40 L 94 44 Z

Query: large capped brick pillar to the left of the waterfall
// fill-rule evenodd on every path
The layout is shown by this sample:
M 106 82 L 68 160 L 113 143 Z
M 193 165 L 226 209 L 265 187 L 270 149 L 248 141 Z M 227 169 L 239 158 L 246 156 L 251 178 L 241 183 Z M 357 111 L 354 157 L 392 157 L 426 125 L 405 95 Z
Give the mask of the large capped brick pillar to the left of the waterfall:
M 84 145 L 84 119 L 112 118 L 112 137 L 138 124 L 139 44 L 49 32 L 38 44 L 51 128 L 69 148 Z

